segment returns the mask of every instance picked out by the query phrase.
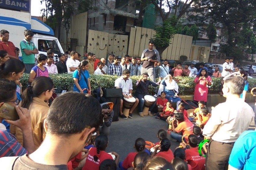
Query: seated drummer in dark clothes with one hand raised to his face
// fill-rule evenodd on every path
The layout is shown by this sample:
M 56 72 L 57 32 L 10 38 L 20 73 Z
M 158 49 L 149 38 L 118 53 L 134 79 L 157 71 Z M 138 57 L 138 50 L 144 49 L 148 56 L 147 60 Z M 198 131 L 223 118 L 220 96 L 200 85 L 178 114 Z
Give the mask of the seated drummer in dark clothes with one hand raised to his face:
M 137 82 L 136 82 L 136 92 L 135 92 L 134 96 L 138 97 L 138 99 L 139 99 L 139 115 L 141 117 L 144 117 L 144 115 L 142 113 L 143 106 L 144 106 L 144 103 L 145 103 L 144 96 L 145 95 L 150 95 L 150 94 L 148 94 L 148 86 L 151 85 L 153 87 L 157 87 L 160 84 L 161 80 L 162 79 L 160 78 L 157 83 L 151 82 L 150 80 L 148 80 L 148 73 L 142 73 L 139 80 L 137 80 Z M 155 103 L 156 103 L 156 100 L 155 100 Z M 148 115 L 150 115 L 150 116 L 153 116 L 153 114 L 151 113 L 151 110 L 154 108 L 155 103 L 153 103 L 149 107 Z

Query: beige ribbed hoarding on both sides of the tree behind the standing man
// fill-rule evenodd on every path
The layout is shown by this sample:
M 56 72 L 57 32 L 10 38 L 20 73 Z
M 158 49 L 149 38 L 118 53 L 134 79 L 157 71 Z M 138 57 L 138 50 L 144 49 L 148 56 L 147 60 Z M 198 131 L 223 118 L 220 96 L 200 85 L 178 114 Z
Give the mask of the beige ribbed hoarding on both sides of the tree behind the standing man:
M 128 54 L 140 57 L 143 50 L 148 48 L 148 42 L 155 35 L 155 30 L 149 28 L 131 28 Z M 180 60 L 181 55 L 189 58 L 193 37 L 175 34 L 171 44 L 164 50 L 162 58 Z

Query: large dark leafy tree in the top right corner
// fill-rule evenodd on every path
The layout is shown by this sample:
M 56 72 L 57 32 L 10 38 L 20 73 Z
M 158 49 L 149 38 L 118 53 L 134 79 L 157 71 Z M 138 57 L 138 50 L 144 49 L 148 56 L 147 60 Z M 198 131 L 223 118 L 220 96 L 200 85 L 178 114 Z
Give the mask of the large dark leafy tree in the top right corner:
M 248 37 L 245 36 L 243 30 L 254 27 L 255 7 L 255 0 L 198 0 L 194 3 L 194 11 L 197 15 L 190 19 L 201 23 L 212 21 L 214 25 L 220 26 L 222 28 L 220 38 L 226 40 L 220 44 L 220 52 L 236 60 L 243 60 L 250 52 L 246 44 Z M 252 37 L 255 37 L 255 31 L 253 29 L 251 31 Z M 253 40 L 251 42 L 253 44 Z M 254 49 L 254 46 L 252 47 Z

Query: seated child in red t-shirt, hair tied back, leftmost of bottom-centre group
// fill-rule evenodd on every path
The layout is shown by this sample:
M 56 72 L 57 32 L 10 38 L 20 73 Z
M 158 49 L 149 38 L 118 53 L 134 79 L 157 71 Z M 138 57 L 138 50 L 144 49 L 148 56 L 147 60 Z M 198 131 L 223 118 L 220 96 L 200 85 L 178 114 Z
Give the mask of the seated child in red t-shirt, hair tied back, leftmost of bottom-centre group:
M 135 141 L 135 144 L 134 144 L 134 148 L 136 149 L 136 152 L 130 152 L 127 157 L 123 160 L 123 161 L 120 161 L 120 163 L 118 164 L 118 166 L 121 168 L 123 167 L 123 169 L 128 169 L 130 167 L 133 167 L 133 160 L 134 160 L 134 157 L 136 156 L 136 154 L 138 154 L 139 152 L 142 152 L 144 151 L 145 149 L 145 145 L 146 145 L 146 142 L 144 139 L 142 138 L 138 138 L 136 139 Z M 122 168 L 121 168 L 122 169 Z

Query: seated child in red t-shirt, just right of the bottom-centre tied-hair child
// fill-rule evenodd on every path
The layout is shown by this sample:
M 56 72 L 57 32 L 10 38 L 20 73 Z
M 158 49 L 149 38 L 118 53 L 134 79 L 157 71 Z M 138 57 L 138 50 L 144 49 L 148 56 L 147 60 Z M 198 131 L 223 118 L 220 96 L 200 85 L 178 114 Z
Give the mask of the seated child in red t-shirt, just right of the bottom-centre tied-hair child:
M 171 141 L 167 138 L 164 138 L 161 140 L 160 145 L 154 146 L 155 151 L 151 155 L 151 157 L 159 156 L 167 160 L 168 162 L 171 162 L 174 158 L 173 152 L 170 150 L 171 147 Z M 157 150 L 160 151 L 157 153 Z

